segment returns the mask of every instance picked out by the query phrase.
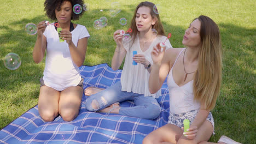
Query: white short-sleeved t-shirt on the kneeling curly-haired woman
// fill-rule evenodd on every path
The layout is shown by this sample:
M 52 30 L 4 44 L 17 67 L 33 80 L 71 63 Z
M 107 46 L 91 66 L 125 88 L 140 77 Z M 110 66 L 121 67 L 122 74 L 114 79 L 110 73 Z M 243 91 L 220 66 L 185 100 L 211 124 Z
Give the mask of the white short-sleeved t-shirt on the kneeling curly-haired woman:
M 78 40 L 90 37 L 85 26 L 77 25 L 72 33 L 72 41 L 77 46 Z M 54 25 L 49 25 L 44 31 L 46 37 L 46 59 L 44 68 L 45 86 L 62 91 L 71 86 L 77 86 L 81 76 L 77 65 L 72 61 L 66 40 L 59 42 L 59 34 Z

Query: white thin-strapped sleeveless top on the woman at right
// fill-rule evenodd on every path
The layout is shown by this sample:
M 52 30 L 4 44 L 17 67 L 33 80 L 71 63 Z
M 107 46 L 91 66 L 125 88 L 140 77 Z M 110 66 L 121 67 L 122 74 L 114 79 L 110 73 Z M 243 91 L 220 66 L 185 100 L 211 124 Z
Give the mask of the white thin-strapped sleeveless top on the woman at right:
M 181 55 L 182 51 L 179 53 L 179 55 Z M 179 55 L 176 58 L 176 61 L 179 58 Z M 193 80 L 181 87 L 179 87 L 173 80 L 172 71 L 176 61 L 174 62 L 167 78 L 167 85 L 170 95 L 170 113 L 179 114 L 191 110 L 197 110 L 201 107 L 201 104 L 199 101 L 194 101 Z

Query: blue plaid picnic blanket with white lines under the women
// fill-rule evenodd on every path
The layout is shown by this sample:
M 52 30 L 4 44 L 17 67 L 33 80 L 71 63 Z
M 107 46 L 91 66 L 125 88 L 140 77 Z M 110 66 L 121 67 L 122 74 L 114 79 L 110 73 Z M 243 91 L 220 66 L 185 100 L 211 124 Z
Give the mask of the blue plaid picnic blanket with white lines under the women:
M 79 67 L 84 78 L 84 89 L 89 86 L 107 88 L 120 81 L 121 71 L 113 71 L 107 64 Z M 44 122 L 38 106 L 25 112 L 0 131 L 0 143 L 142 143 L 151 131 L 165 125 L 169 116 L 169 96 L 166 81 L 158 103 L 161 113 L 153 120 L 127 117 L 113 113 L 89 112 L 83 95 L 77 118 L 65 122 L 59 116 L 53 122 Z M 124 101 L 120 106 L 134 106 Z

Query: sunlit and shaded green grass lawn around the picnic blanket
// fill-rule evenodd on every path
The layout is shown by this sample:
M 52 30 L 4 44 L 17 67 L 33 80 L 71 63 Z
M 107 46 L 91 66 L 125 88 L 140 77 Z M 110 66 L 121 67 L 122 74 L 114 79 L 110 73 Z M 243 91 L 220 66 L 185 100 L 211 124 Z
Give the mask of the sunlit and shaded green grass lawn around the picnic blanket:
M 79 21 L 75 21 L 86 26 L 91 35 L 85 65 L 110 65 L 115 49 L 113 32 L 128 28 L 128 25 L 119 25 L 119 19 L 126 17 L 129 23 L 138 4 L 136 0 L 119 0 L 121 12 L 110 17 L 111 2 L 114 1 L 86 1 L 89 11 Z M 183 47 L 185 29 L 199 15 L 207 15 L 219 25 L 224 49 L 223 84 L 212 111 L 216 135 L 210 141 L 217 142 L 221 135 L 227 135 L 242 143 L 256 143 L 255 1 L 152 2 L 160 4 L 161 21 L 165 31 L 172 33 L 170 41 L 173 47 Z M 0 3 L 0 128 L 3 128 L 37 104 L 39 79 L 43 76 L 45 59 L 39 64 L 33 62 L 32 50 L 36 35 L 26 34 L 24 27 L 30 22 L 49 19 L 43 11 L 43 0 L 0 0 Z M 93 22 L 101 16 L 108 18 L 108 26 L 96 30 Z M 9 52 L 21 57 L 19 69 L 9 70 L 4 67 L 3 58 Z

